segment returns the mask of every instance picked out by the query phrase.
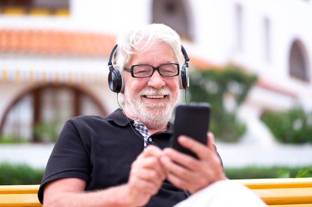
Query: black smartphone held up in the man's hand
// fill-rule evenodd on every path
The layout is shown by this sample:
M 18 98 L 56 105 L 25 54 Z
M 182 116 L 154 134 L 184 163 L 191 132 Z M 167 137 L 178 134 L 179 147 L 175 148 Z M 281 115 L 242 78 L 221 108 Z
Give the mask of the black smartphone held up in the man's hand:
M 209 119 L 210 105 L 208 103 L 177 105 L 174 116 L 174 138 L 171 147 L 198 158 L 195 153 L 181 146 L 177 138 L 180 135 L 185 135 L 206 145 Z

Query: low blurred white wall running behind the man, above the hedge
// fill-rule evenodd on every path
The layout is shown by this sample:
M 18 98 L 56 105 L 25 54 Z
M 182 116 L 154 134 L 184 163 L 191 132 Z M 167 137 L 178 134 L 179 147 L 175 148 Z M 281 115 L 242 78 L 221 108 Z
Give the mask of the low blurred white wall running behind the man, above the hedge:
M 269 146 L 252 143 L 216 143 L 224 167 L 312 166 L 312 144 Z M 53 144 L 0 144 L 0 162 L 24 163 L 44 168 Z

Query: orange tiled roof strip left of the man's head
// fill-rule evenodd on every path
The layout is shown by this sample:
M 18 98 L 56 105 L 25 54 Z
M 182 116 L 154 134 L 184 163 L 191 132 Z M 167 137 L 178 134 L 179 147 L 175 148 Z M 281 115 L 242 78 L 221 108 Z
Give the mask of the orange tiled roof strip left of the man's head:
M 0 52 L 109 55 L 116 37 L 108 34 L 55 30 L 0 30 Z

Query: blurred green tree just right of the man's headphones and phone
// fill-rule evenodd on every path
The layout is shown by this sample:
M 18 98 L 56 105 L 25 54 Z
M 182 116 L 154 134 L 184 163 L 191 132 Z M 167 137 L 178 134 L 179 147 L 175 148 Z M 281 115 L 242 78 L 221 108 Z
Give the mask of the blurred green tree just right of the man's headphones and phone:
M 237 118 L 237 110 L 244 102 L 257 76 L 241 68 L 193 70 L 190 74 L 188 101 L 208 102 L 211 105 L 210 131 L 216 139 L 235 142 L 246 131 L 246 125 Z M 230 109 L 225 101 L 232 101 Z

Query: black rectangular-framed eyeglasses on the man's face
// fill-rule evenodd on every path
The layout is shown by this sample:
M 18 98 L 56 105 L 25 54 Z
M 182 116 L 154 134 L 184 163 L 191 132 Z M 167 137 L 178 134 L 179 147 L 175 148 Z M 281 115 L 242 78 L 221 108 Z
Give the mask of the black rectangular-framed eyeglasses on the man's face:
M 154 71 L 157 70 L 161 76 L 172 77 L 179 74 L 179 64 L 167 63 L 163 64 L 157 68 L 154 68 L 150 65 L 135 65 L 126 71 L 131 72 L 132 77 L 150 77 L 154 74 Z

